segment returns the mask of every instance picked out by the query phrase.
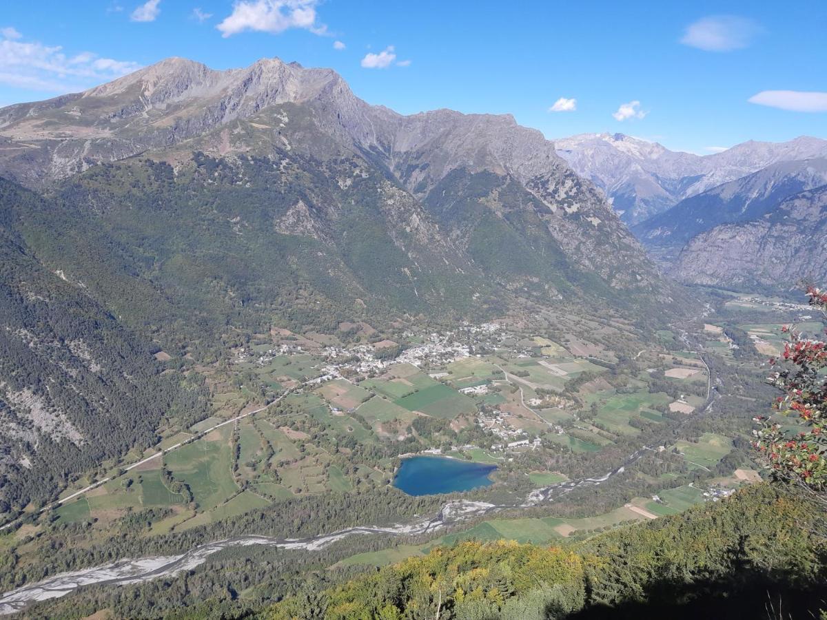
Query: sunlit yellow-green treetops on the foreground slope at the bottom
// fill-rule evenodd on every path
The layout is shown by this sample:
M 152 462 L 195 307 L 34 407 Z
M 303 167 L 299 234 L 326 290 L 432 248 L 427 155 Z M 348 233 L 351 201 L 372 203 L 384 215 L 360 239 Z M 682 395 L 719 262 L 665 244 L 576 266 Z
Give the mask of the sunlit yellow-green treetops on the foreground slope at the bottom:
M 563 618 L 599 606 L 675 604 L 825 577 L 817 512 L 761 484 L 733 498 L 562 549 L 500 541 L 437 548 L 263 618 Z

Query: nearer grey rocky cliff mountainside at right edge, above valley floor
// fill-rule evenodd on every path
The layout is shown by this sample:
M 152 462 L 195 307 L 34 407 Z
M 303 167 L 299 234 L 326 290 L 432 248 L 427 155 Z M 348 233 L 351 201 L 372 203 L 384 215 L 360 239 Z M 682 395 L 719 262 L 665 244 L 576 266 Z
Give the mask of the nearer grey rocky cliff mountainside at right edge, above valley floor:
M 827 281 L 827 186 L 786 198 L 751 222 L 692 239 L 671 273 L 692 284 L 793 289 Z

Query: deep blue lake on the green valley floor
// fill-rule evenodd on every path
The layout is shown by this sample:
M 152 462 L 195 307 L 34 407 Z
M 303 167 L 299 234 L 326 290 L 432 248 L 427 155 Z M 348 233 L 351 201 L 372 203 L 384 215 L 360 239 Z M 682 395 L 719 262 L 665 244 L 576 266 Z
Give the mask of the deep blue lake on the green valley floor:
M 403 459 L 394 487 L 409 495 L 431 495 L 470 491 L 492 484 L 488 477 L 496 465 L 440 456 L 411 456 Z

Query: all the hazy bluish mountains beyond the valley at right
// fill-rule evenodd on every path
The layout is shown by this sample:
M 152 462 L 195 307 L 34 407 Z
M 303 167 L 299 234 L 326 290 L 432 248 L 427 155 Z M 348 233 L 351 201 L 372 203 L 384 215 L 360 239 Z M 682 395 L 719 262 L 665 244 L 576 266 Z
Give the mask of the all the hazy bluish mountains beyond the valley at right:
M 623 134 L 556 144 L 677 280 L 747 289 L 827 281 L 822 240 L 810 232 L 825 225 L 818 188 L 827 185 L 827 141 L 748 141 L 704 156 Z

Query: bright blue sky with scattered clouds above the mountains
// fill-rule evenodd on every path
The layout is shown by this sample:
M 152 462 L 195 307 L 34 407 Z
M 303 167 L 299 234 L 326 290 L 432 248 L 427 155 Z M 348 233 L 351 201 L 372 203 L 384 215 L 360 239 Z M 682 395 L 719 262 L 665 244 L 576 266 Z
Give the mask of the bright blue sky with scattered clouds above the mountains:
M 216 69 L 278 56 L 398 112 L 509 112 L 549 138 L 619 131 L 703 154 L 827 138 L 825 32 L 818 0 L 7 0 L 0 105 L 168 56 Z

